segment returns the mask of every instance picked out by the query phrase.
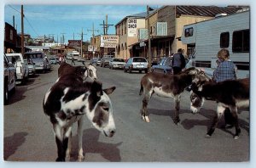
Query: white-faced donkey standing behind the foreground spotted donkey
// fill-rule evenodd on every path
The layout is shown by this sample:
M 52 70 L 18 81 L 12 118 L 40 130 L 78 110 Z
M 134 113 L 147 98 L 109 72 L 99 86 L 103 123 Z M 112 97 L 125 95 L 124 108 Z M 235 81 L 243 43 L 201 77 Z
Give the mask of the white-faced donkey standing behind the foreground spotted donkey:
M 84 80 L 86 80 L 88 77 L 91 80 L 96 80 L 96 68 L 89 64 L 85 66 L 73 66 L 71 64 L 62 63 L 58 69 L 58 76 L 62 76 L 64 74 L 78 74 L 79 76 L 84 76 Z

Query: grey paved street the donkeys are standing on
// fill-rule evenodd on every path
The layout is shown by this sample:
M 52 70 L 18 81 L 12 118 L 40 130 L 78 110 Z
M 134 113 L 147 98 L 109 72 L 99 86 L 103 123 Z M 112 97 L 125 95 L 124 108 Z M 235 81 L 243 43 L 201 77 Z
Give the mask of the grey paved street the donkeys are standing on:
M 10 104 L 4 106 L 4 160 L 55 161 L 57 148 L 52 126 L 43 112 L 44 93 L 57 79 L 58 65 L 45 74 L 30 78 L 16 87 Z M 224 130 L 224 120 L 211 138 L 205 138 L 216 104 L 207 101 L 201 113 L 189 110 L 189 92 L 182 95 L 181 124 L 173 122 L 174 103 L 156 95 L 150 99 L 150 123 L 141 120 L 143 97 L 139 96 L 144 74 L 124 73 L 97 66 L 103 87 L 117 87 L 110 98 L 117 132 L 105 137 L 86 119 L 83 148 L 85 162 L 240 162 L 249 160 L 249 112 L 238 115 L 241 137 L 233 139 L 235 129 Z M 73 127 L 71 161 L 78 158 L 78 137 Z

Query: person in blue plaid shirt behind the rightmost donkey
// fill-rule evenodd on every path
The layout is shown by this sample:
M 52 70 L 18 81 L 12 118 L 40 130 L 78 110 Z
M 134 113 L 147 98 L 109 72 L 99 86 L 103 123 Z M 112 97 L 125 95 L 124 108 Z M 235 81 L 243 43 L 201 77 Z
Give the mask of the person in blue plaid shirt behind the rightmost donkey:
M 213 71 L 212 81 L 220 82 L 226 80 L 236 80 L 236 65 L 230 60 L 230 52 L 227 49 L 221 49 L 217 55 L 217 68 Z M 231 128 L 233 124 L 233 116 L 229 108 L 224 110 L 225 128 Z

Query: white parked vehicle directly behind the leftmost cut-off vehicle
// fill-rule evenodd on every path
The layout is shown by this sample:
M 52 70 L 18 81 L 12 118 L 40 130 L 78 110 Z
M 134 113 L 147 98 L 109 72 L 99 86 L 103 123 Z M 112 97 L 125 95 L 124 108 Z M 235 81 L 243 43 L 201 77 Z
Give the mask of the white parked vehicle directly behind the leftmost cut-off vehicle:
M 9 62 L 15 65 L 16 81 L 24 83 L 28 78 L 28 64 L 21 53 L 6 53 Z

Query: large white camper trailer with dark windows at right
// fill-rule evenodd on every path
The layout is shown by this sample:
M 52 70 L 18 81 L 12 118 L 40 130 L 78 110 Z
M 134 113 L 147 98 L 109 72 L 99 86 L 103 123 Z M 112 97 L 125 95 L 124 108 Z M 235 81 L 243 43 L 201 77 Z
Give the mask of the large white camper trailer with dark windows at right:
M 238 70 L 249 70 L 250 11 L 218 14 L 212 20 L 184 25 L 181 40 L 196 67 L 216 68 L 218 51 L 227 48 Z

